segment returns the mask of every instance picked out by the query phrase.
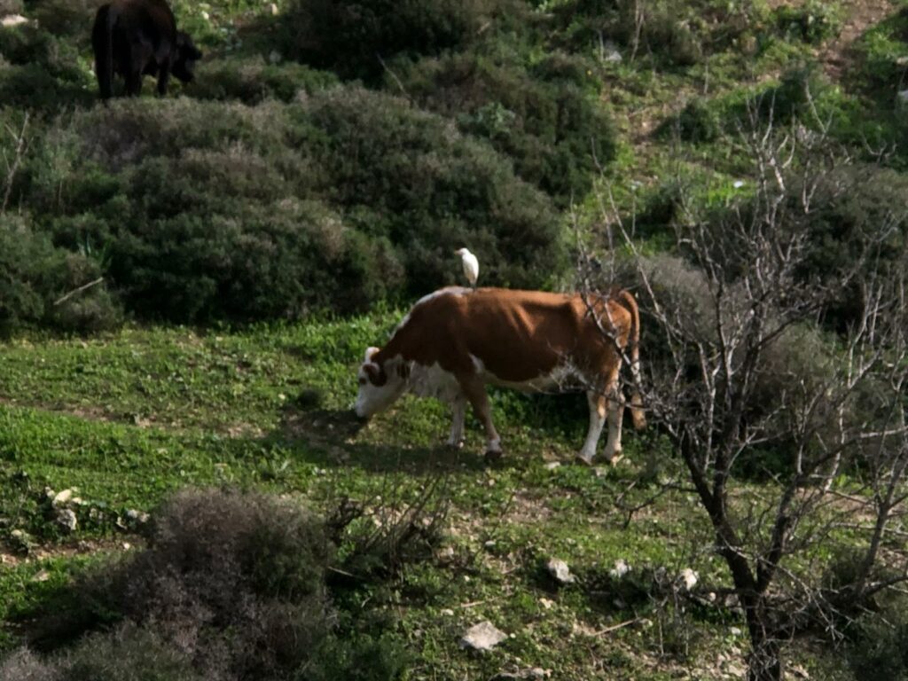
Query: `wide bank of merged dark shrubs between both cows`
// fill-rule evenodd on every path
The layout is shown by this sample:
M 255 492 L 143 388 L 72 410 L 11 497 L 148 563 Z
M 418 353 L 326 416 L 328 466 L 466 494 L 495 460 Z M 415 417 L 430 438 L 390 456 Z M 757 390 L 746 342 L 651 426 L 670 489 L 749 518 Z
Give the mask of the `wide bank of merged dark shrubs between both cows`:
M 85 329 L 114 323 L 112 295 L 169 321 L 362 311 L 458 281 L 464 244 L 489 283 L 546 286 L 565 263 L 552 202 L 506 159 L 355 86 L 287 105 L 119 100 L 35 123 L 12 196 L 35 243 L 61 256 L 35 267 L 62 277 L 69 259 L 54 293 L 104 277 L 54 310 Z M 49 311 L 29 305 L 10 324 Z

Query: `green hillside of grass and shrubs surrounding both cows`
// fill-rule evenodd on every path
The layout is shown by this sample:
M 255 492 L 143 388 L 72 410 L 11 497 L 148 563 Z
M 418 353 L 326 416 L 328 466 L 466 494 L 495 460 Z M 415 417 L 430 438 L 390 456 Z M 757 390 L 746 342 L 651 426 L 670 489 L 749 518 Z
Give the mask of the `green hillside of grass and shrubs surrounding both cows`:
M 795 222 L 807 273 L 839 271 L 883 225 L 878 262 L 904 271 L 908 7 L 178 0 L 205 53 L 196 82 L 157 98 L 146 80 L 142 97 L 104 106 L 97 5 L 0 0 L 0 18 L 26 20 L 0 27 L 0 679 L 120 678 L 131 656 L 149 679 L 264 677 L 211 664 L 257 627 L 262 639 L 241 641 L 252 651 L 275 631 L 314 651 L 288 661 L 281 648 L 269 678 L 745 676 L 745 617 L 664 427 L 628 429 L 614 468 L 581 468 L 569 461 L 582 397 L 493 391 L 506 457 L 487 466 L 474 417 L 467 446 L 445 449 L 449 416 L 429 400 L 359 429 L 356 366 L 411 301 L 459 281 L 463 245 L 479 253 L 480 283 L 509 287 L 573 288 L 578 246 L 608 263 L 618 219 L 646 257 L 680 262 L 676 234 L 755 211 L 753 126 L 822 136 L 847 158 Z M 696 292 L 672 266 L 660 285 Z M 779 371 L 844 362 L 856 295 L 818 313 Z M 653 319 L 645 309 L 655 373 L 668 353 Z M 771 518 L 789 454 L 783 443 L 742 457 L 739 518 Z M 862 459 L 835 480 L 810 526 L 829 534 L 785 564 L 780 594 L 801 576 L 834 588 L 850 569 L 872 468 Z M 180 515 L 180 502 L 161 505 L 186 488 L 309 509 L 331 545 L 311 554 L 318 586 L 301 600 L 293 581 L 293 542 L 308 540 L 293 535 L 285 553 L 273 541 L 262 555 L 279 586 L 265 606 L 224 623 L 210 602 L 193 610 L 193 587 L 167 610 L 162 587 L 149 612 L 208 627 L 162 643 L 153 618 L 105 598 L 135 578 L 129 566 L 155 574 L 148 556 L 170 546 L 157 521 Z M 249 498 L 263 524 L 242 501 L 212 503 L 224 524 L 250 523 L 262 553 L 286 508 Z M 309 519 L 288 518 L 308 537 Z M 900 569 L 902 516 L 889 527 L 883 566 Z M 559 585 L 550 558 L 575 581 Z M 908 625 L 887 598 L 834 623 L 845 634 L 833 641 L 792 632 L 789 670 L 908 678 L 892 652 Z M 294 628 L 307 618 L 323 631 Z M 462 649 L 487 619 L 508 638 Z M 94 647 L 126 667 L 102 673 Z M 243 664 L 264 664 L 256 655 Z

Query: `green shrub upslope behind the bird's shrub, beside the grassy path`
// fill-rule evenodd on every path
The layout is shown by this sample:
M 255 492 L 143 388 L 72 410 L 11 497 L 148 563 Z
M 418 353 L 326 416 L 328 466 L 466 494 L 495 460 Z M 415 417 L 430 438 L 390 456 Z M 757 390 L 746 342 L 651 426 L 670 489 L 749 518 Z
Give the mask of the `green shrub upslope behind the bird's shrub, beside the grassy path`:
M 589 191 L 597 163 L 615 156 L 616 133 L 589 73 L 586 60 L 562 53 L 531 70 L 467 53 L 424 59 L 400 79 L 419 104 L 488 139 L 521 178 L 567 203 Z

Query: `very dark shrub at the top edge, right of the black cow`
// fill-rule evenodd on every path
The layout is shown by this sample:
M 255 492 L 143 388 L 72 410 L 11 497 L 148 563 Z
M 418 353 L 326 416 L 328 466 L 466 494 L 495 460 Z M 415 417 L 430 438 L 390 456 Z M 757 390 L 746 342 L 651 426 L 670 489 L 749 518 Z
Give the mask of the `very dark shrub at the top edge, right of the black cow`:
M 285 15 L 289 54 L 343 77 L 381 74 L 380 60 L 439 54 L 468 43 L 493 0 L 294 0 Z

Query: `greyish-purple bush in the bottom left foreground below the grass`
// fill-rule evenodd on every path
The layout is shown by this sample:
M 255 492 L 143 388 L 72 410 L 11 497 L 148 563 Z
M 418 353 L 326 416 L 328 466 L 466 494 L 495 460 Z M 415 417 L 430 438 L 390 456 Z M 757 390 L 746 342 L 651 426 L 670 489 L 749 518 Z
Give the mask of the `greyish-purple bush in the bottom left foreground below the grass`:
M 324 522 L 294 501 L 183 491 L 153 513 L 148 548 L 89 573 L 67 607 L 38 617 L 32 645 L 50 655 L 20 650 L 0 678 L 400 679 L 397 639 L 332 605 L 333 555 Z

